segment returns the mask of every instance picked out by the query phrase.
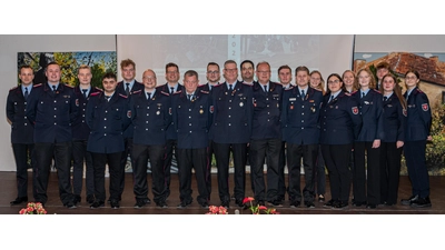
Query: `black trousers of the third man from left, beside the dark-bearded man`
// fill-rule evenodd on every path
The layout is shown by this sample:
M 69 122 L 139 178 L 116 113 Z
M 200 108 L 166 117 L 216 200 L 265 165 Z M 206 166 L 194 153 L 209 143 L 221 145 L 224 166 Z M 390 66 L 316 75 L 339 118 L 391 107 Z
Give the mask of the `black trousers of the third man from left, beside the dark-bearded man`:
M 87 196 L 95 194 L 95 179 L 91 153 L 87 151 L 87 140 L 72 141 L 72 193 L 80 196 L 83 183 L 83 161 L 86 164 L 85 182 Z

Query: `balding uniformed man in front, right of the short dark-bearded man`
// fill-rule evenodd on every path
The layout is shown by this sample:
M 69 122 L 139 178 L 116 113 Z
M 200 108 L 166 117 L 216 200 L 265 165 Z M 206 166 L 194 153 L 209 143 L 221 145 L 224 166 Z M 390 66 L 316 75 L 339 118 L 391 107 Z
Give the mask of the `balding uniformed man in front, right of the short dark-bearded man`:
M 167 208 L 164 184 L 167 129 L 171 123 L 171 100 L 168 92 L 156 89 L 156 73 L 148 69 L 142 74 L 144 90 L 131 94 L 131 119 L 135 126 L 132 156 L 135 166 L 135 208 L 150 202 L 148 198 L 147 164 L 150 159 L 152 193 L 156 206 Z

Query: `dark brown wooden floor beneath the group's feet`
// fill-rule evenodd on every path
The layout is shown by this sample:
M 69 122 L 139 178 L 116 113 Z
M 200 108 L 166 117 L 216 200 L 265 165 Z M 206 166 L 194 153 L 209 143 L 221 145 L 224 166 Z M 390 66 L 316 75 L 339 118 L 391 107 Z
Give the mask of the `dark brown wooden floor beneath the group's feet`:
M 21 208 L 26 204 L 19 206 L 10 206 L 9 202 L 13 200 L 17 196 L 16 191 L 16 172 L 0 172 L 0 214 L 17 214 Z M 31 172 L 29 173 L 31 177 Z M 120 204 L 120 209 L 111 209 L 108 204 L 105 208 L 100 209 L 90 209 L 89 204 L 85 201 L 85 194 L 82 197 L 82 202 L 76 209 L 67 209 L 62 206 L 59 194 L 58 194 L 58 184 L 57 184 L 57 173 L 51 172 L 50 183 L 48 187 L 48 202 L 46 204 L 46 209 L 48 213 L 57 213 L 57 214 L 204 214 L 207 212 L 206 209 L 201 209 L 196 202 L 196 197 L 194 197 L 195 201 L 190 207 L 186 209 L 177 209 L 176 206 L 179 203 L 179 191 L 178 191 L 178 179 L 177 174 L 172 174 L 172 187 L 171 194 L 167 200 L 168 208 L 160 209 L 157 208 L 154 203 L 144 207 L 142 209 L 135 209 L 135 198 L 132 194 L 132 178 L 131 173 L 126 173 L 126 188 L 122 194 L 122 201 Z M 151 177 L 148 174 L 149 184 L 151 183 Z M 250 190 L 250 181 L 247 178 L 246 182 L 246 197 L 251 197 Z M 349 206 L 344 210 L 333 210 L 323 207 L 323 203 L 315 202 L 316 207 L 313 209 L 308 208 L 290 208 L 289 201 L 286 198 L 286 202 L 283 207 L 276 208 L 277 211 L 281 214 L 444 214 L 445 213 L 445 177 L 429 177 L 431 182 L 431 200 L 433 203 L 432 208 L 425 209 L 413 209 L 409 206 L 396 204 L 392 207 L 378 207 L 377 209 L 366 209 L 365 207 L 356 208 Z M 301 178 L 301 183 L 304 184 L 304 180 Z M 108 178 L 107 178 L 107 189 L 108 189 Z M 233 176 L 230 176 L 230 190 L 233 189 Z M 326 200 L 330 198 L 329 194 L 329 184 L 327 183 L 327 193 Z M 192 180 L 192 189 L 194 194 L 197 194 L 196 181 Z M 31 190 L 29 190 L 29 194 L 31 194 Z M 407 198 L 411 196 L 411 183 L 408 177 L 400 177 L 399 184 L 399 199 Z M 31 198 L 31 197 L 30 197 Z M 152 200 L 152 194 L 150 193 L 149 198 Z M 31 198 L 32 199 L 32 198 Z M 218 199 L 218 187 L 216 174 L 212 174 L 212 192 L 210 204 L 219 206 Z M 235 202 L 230 203 L 229 213 L 235 213 L 235 209 L 237 206 Z M 248 213 L 248 210 L 240 210 L 240 213 Z

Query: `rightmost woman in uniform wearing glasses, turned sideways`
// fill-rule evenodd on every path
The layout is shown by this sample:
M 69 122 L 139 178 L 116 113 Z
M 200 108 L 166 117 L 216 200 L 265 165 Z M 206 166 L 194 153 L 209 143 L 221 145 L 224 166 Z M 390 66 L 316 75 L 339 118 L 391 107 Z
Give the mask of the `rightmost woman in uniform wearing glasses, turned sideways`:
M 426 168 L 426 141 L 432 140 L 432 113 L 428 97 L 418 88 L 421 74 L 408 70 L 405 74 L 407 119 L 405 123 L 404 154 L 413 186 L 412 196 L 402 204 L 413 208 L 432 207 L 429 200 L 429 176 Z

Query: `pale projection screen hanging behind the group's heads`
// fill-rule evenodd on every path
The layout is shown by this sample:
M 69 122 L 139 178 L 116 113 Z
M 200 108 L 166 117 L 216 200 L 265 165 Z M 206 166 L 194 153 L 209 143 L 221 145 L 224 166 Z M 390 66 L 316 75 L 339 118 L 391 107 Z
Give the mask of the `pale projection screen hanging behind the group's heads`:
M 181 72 L 196 70 L 199 79 L 206 79 L 210 61 L 220 66 L 228 59 L 268 61 L 270 80 L 279 81 L 277 70 L 283 64 L 306 66 L 325 74 L 350 69 L 353 46 L 353 34 L 118 34 L 117 57 L 134 60 L 137 72 L 149 68 L 164 76 L 165 66 L 175 62 Z M 137 80 L 141 76 L 137 73 Z

